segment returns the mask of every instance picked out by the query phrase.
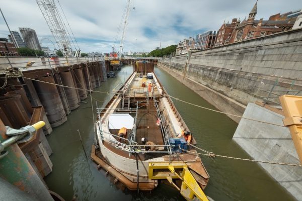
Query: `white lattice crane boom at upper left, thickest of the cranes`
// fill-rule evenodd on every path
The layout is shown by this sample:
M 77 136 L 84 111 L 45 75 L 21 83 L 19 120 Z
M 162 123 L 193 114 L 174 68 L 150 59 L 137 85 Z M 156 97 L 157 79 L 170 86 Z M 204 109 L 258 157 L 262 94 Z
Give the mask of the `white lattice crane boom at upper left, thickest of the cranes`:
M 58 12 L 56 5 L 53 0 L 36 0 L 43 17 L 55 39 L 59 49 L 63 53 L 64 56 L 81 56 L 81 50 L 77 50 L 75 55 L 73 54 L 70 40 L 72 41 L 69 32 L 65 30 L 65 24 Z M 66 19 L 67 20 L 67 19 Z M 68 24 L 69 25 L 69 24 Z M 71 29 L 70 29 L 71 30 Z M 69 38 L 68 38 L 69 37 Z M 72 41 L 73 42 L 73 41 Z

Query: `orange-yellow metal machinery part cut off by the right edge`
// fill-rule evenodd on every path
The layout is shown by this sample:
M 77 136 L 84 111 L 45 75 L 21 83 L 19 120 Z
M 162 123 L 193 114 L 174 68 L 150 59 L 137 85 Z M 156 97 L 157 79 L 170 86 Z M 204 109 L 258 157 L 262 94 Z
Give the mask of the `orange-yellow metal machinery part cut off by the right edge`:
M 289 127 L 294 147 L 302 164 L 302 96 L 280 96 L 285 119 L 284 126 Z

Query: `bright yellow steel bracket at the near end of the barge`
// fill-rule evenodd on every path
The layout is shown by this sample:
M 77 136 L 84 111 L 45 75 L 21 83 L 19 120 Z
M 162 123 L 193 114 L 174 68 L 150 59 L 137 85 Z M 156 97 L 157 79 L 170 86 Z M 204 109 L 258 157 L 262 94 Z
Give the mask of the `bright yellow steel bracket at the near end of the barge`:
M 196 198 L 201 201 L 208 201 L 207 196 L 184 162 L 149 162 L 148 177 L 149 179 L 167 179 L 188 201 L 196 200 Z M 177 186 L 173 179 L 182 180 L 181 187 Z

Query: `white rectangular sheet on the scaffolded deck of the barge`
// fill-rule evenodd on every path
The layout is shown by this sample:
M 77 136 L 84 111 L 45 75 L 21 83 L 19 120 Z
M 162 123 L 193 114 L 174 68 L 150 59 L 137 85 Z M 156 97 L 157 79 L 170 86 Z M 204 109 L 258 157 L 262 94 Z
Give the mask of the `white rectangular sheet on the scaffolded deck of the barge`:
M 134 124 L 134 118 L 129 114 L 111 114 L 109 116 L 109 129 L 120 129 L 126 127 L 127 129 L 132 129 Z

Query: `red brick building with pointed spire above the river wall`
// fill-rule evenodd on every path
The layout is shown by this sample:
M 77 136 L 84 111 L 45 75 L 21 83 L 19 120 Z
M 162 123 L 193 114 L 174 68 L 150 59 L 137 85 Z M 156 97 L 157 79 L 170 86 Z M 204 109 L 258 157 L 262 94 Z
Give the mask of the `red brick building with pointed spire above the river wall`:
M 291 12 L 273 15 L 269 18 L 269 20 L 263 20 L 263 18 L 260 20 L 255 20 L 257 14 L 257 2 L 258 0 L 249 13 L 247 20 L 244 19 L 242 22 L 240 22 L 239 20 L 237 21 L 237 19 L 233 19 L 231 24 L 223 23 L 218 31 L 215 46 L 258 38 L 261 36 L 287 31 L 292 28 L 295 18 L 288 17 Z

